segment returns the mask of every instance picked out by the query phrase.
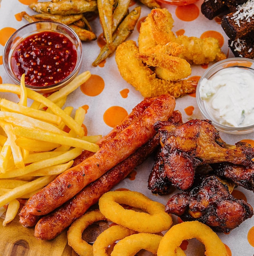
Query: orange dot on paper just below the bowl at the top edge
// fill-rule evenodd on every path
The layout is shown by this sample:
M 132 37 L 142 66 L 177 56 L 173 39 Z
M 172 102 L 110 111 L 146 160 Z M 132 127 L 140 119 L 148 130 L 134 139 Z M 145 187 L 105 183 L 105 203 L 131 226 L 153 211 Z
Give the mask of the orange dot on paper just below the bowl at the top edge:
M 178 6 L 175 14 L 179 20 L 192 21 L 199 17 L 199 8 L 196 4 Z

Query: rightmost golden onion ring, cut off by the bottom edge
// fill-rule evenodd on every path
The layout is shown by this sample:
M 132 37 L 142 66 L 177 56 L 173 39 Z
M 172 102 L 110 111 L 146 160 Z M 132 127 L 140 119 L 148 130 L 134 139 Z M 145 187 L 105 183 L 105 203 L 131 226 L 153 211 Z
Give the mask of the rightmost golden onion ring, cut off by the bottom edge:
M 205 245 L 206 256 L 227 256 L 226 247 L 219 236 L 210 227 L 197 220 L 182 222 L 171 227 L 161 239 L 157 256 L 176 256 L 175 250 L 182 241 L 192 238 L 197 238 Z

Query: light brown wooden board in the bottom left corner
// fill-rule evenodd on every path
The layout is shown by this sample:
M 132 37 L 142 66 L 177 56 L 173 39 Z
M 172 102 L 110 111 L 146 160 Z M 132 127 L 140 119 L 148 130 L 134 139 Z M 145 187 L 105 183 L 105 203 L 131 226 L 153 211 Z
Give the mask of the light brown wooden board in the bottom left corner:
M 67 244 L 66 231 L 54 240 L 43 241 L 33 236 L 34 228 L 20 225 L 18 216 L 6 227 L 3 220 L 0 218 L 0 256 L 77 256 Z

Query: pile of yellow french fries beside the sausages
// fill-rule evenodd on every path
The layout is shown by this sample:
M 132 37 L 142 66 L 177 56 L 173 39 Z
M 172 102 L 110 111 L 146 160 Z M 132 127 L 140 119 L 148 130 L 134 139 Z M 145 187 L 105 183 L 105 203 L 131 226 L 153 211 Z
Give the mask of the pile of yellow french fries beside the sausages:
M 83 150 L 96 152 L 102 136 L 84 136 L 85 110 L 63 108 L 68 94 L 91 76 L 78 75 L 49 97 L 20 85 L 0 84 L 0 92 L 19 96 L 18 103 L 0 99 L 0 209 L 7 208 L 3 225 L 11 222 L 28 199 L 73 164 Z M 31 105 L 28 106 L 28 101 Z M 66 132 L 66 126 L 69 132 Z

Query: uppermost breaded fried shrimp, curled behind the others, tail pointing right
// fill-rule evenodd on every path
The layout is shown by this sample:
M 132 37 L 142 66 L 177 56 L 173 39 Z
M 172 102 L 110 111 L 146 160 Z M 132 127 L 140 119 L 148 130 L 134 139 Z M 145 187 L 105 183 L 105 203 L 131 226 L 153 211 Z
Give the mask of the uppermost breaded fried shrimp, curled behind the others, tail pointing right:
M 221 52 L 219 42 L 215 38 L 197 38 L 194 36 L 175 36 L 172 32 L 174 20 L 167 9 L 153 9 L 146 20 L 141 23 L 138 38 L 139 52 L 153 52 L 157 45 L 169 42 L 182 47 L 180 58 L 191 64 L 205 64 L 211 61 L 221 61 L 226 58 Z

